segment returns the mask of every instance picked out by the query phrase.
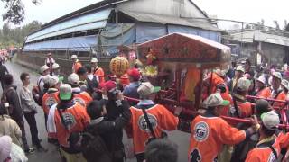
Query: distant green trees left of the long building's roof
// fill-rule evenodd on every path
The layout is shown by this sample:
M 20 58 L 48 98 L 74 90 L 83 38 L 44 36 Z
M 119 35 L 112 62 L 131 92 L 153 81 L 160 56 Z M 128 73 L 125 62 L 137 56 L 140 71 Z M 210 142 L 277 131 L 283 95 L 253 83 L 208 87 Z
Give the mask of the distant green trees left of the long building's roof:
M 37 31 L 42 26 L 42 23 L 33 21 L 23 27 L 10 28 L 8 23 L 5 23 L 0 29 L 0 49 L 6 49 L 10 46 L 22 47 L 25 38 L 33 31 Z

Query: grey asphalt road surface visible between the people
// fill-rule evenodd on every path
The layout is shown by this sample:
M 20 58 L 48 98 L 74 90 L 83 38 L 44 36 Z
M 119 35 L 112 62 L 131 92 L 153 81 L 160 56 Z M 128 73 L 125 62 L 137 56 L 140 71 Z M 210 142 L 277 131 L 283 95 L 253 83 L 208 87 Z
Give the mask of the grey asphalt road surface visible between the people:
M 36 85 L 37 79 L 39 75 L 25 67 L 22 67 L 15 63 L 7 62 L 5 63 L 5 66 L 7 67 L 9 73 L 11 73 L 14 76 L 14 85 L 17 85 L 18 87 L 21 87 L 22 83 L 20 81 L 20 74 L 23 72 L 27 72 L 31 75 L 31 85 L 30 88 L 32 89 L 33 85 Z M 2 91 L 2 90 L 1 90 Z M 1 92 L 2 94 L 2 92 Z M 48 152 L 37 152 L 28 155 L 29 162 L 61 162 L 58 150 L 51 144 L 47 143 L 47 133 L 45 130 L 44 125 L 44 115 L 41 107 L 38 109 L 38 113 L 36 114 L 36 121 L 39 131 L 39 138 L 42 139 L 42 146 L 45 148 L 48 148 Z M 27 125 L 27 122 L 25 121 L 25 130 L 26 130 L 26 136 L 28 139 L 29 145 L 31 145 L 31 135 L 29 131 L 29 126 Z M 190 134 L 184 133 L 181 131 L 171 131 L 168 132 L 169 139 L 171 139 L 173 142 L 175 142 L 178 145 L 178 152 L 179 152 L 179 162 L 185 162 L 187 160 L 188 155 L 188 148 L 189 148 L 189 139 Z M 126 135 L 124 136 L 126 137 Z M 124 138 L 124 142 L 126 142 L 126 138 Z M 127 160 L 128 162 L 135 162 L 135 159 Z

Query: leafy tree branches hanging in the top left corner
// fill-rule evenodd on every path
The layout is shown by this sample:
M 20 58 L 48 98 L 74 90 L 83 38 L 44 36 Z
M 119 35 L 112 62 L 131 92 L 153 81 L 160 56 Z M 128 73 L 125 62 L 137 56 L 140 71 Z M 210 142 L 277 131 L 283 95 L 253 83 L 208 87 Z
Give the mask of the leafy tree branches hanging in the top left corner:
M 19 24 L 24 20 L 24 5 L 22 0 L 1 0 L 5 3 L 5 14 L 2 14 L 3 21 Z M 33 4 L 39 4 L 40 0 L 32 0 Z

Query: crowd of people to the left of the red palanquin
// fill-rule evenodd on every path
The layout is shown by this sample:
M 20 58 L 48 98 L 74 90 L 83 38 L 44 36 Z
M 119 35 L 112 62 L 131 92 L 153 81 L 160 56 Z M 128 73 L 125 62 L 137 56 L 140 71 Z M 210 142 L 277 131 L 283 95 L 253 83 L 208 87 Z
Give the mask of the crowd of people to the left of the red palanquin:
M 38 134 L 35 119 L 40 111 L 38 106 L 44 113 L 47 141 L 59 148 L 63 161 L 125 161 L 123 129 L 134 143 L 135 149 L 130 151 L 137 161 L 177 161 L 176 145 L 168 139 L 159 139 L 164 138 L 163 130 L 176 130 L 179 121 L 176 114 L 154 103 L 160 87 L 141 83 L 142 76 L 137 68 L 127 71 L 129 78 L 122 78 L 126 79 L 125 86 L 114 76 L 105 78 L 97 58 L 92 58 L 90 65 L 85 66 L 76 55 L 72 55 L 71 60 L 71 74 L 65 78 L 61 76 L 61 66 L 49 53 L 33 89 L 28 88 L 30 75 L 20 75 L 23 86 L 18 94 L 14 76 L 2 66 L 6 72 L 1 79 L 4 97 L 0 106 L 3 139 L 0 142 L 7 147 L 0 149 L 1 162 L 18 158 L 27 161 L 25 156 L 20 156 L 24 154 L 15 157 L 13 144 L 22 147 L 25 154 L 48 151 Z M 139 102 L 128 103 L 123 93 Z M 33 147 L 28 145 L 23 117 L 29 125 Z

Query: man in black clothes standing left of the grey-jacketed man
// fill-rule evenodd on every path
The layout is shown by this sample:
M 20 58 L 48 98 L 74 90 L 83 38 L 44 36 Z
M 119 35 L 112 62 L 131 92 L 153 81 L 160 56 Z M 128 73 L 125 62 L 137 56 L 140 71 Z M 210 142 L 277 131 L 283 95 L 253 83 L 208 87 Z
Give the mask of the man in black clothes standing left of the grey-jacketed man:
M 23 121 L 23 109 L 21 108 L 21 104 L 19 102 L 19 97 L 16 92 L 17 86 L 13 84 L 13 76 L 7 74 L 4 76 L 4 93 L 6 96 L 6 102 L 9 103 L 9 115 L 11 118 L 16 121 L 20 130 L 22 131 L 22 141 L 23 141 L 23 148 L 25 153 L 32 153 L 34 150 L 33 148 L 29 148 L 25 128 L 24 128 L 24 121 Z

